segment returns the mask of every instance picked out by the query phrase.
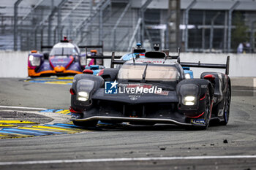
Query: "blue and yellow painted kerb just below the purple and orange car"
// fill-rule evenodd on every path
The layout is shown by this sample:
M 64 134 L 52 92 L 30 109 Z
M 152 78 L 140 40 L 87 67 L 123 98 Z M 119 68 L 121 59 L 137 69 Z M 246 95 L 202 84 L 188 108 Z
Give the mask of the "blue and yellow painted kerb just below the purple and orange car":
M 24 82 L 36 82 L 57 85 L 72 85 L 74 77 L 36 77 L 24 80 Z

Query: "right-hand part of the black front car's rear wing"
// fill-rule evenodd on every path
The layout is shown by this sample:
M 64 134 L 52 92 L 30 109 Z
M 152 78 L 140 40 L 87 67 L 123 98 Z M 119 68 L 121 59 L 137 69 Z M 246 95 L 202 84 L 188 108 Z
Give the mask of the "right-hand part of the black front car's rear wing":
M 226 64 L 220 64 L 220 63 L 187 63 L 187 62 L 180 62 L 180 58 L 178 57 L 178 63 L 181 64 L 181 66 L 188 66 L 188 67 L 201 67 L 201 68 L 213 68 L 213 69 L 225 69 L 225 74 L 229 74 L 230 69 L 230 56 L 227 56 Z

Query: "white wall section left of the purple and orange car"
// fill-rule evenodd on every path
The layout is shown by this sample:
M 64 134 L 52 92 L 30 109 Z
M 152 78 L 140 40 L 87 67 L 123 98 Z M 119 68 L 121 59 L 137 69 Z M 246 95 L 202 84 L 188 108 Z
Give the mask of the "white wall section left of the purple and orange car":
M 0 51 L 0 77 L 28 77 L 29 52 Z

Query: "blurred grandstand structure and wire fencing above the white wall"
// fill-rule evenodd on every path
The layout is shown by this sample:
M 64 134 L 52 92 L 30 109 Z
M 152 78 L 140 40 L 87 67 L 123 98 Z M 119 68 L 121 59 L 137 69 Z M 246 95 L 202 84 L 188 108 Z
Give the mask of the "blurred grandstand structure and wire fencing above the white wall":
M 77 45 L 255 53 L 255 0 L 0 0 L 0 50 Z

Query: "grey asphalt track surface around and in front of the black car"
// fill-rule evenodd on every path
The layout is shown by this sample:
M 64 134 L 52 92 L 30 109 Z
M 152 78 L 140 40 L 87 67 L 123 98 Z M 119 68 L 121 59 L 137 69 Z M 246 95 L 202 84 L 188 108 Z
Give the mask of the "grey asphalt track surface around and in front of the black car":
M 67 109 L 69 88 L 0 79 L 0 106 Z M 0 169 L 256 169 L 256 97 L 245 92 L 233 96 L 228 125 L 206 131 L 107 125 L 75 134 L 0 139 Z

